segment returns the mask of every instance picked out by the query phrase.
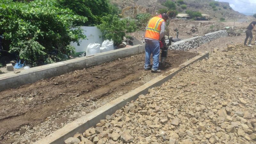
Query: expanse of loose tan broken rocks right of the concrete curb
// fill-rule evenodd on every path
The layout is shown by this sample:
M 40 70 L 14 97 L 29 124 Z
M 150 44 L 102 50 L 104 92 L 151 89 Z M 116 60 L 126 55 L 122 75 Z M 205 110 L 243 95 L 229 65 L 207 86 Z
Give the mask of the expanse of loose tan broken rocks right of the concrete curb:
M 255 143 L 255 57 L 255 45 L 214 49 L 65 143 Z

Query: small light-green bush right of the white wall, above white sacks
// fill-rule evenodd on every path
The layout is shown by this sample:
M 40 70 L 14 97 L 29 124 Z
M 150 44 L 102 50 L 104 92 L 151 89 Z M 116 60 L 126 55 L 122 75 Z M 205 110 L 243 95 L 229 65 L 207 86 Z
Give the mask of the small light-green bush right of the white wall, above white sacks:
M 120 44 L 126 32 L 136 30 L 135 23 L 128 19 L 120 20 L 117 15 L 102 17 L 102 23 L 97 26 L 103 33 L 104 39 L 112 39 L 114 44 Z

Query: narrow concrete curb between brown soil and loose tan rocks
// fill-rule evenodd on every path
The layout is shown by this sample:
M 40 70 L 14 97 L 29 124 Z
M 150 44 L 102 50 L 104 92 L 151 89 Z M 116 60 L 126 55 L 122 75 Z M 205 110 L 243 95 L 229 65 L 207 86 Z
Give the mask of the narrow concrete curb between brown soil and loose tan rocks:
M 51 133 L 45 138 L 36 141 L 34 144 L 63 144 L 64 140 L 69 137 L 73 137 L 76 132 L 83 133 L 86 129 L 95 126 L 100 122 L 101 119 L 105 119 L 106 115 L 112 115 L 116 110 L 124 107 L 126 102 L 131 102 L 136 100 L 139 95 L 148 93 L 148 89 L 160 86 L 164 82 L 171 79 L 175 74 L 181 71 L 183 68 L 189 66 L 190 64 L 203 60 L 209 57 L 209 52 L 200 54 L 180 65 L 179 68 L 173 68 L 168 72 L 157 76 L 153 80 L 147 82 L 146 84 L 134 89 L 133 91 L 124 94 L 123 96 L 103 105 L 102 107 L 92 111 L 91 113 L 82 116 L 75 121 L 67 124 L 63 128 Z

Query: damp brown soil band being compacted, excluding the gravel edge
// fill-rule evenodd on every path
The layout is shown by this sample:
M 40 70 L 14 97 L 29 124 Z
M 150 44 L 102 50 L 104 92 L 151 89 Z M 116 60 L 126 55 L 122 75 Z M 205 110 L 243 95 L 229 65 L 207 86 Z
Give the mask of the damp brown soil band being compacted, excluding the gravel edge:
M 196 53 L 170 50 L 166 67 L 160 69 L 178 67 L 194 56 Z M 114 91 L 131 90 L 134 84 L 142 85 L 140 76 L 151 75 L 143 70 L 144 58 L 140 54 L 0 92 L 0 135 L 22 125 L 40 124 L 76 101 L 97 100 Z

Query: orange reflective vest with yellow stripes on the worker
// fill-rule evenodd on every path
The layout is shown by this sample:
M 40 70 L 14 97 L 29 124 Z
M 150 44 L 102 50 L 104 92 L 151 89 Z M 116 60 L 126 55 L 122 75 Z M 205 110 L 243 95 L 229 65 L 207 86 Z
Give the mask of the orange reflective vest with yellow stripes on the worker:
M 148 22 L 148 27 L 146 27 L 145 37 L 158 40 L 161 31 L 161 24 L 163 23 L 163 21 L 164 20 L 159 16 L 150 19 Z

